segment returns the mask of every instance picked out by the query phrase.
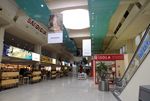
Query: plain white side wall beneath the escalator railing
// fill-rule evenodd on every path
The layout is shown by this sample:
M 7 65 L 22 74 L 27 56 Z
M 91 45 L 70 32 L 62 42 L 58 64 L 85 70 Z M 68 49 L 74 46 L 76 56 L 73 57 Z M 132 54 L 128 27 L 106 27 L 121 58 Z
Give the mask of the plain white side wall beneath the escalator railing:
M 141 64 L 138 71 L 135 73 L 129 84 L 120 94 L 119 98 L 122 101 L 138 101 L 139 86 L 150 85 L 150 54 Z

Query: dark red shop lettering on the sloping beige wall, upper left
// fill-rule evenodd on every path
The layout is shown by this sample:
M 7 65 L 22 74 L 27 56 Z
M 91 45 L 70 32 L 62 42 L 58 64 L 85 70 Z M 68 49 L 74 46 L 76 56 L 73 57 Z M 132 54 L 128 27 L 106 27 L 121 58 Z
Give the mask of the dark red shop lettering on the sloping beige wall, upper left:
M 39 32 L 43 33 L 44 35 L 46 35 L 46 30 L 44 28 L 42 28 L 36 21 L 34 21 L 33 19 L 29 18 L 27 20 L 27 22 L 32 25 L 36 30 L 38 30 Z

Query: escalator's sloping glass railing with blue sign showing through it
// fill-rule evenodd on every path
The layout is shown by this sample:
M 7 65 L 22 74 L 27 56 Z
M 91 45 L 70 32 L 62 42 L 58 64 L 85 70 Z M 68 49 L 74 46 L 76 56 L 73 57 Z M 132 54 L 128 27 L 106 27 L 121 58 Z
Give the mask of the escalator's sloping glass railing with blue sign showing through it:
M 150 52 L 150 25 L 147 27 L 142 40 L 137 47 L 123 77 L 120 81 L 116 82 L 116 87 L 114 93 L 119 95 L 124 88 L 128 85 L 140 65 L 143 63 L 144 59 Z

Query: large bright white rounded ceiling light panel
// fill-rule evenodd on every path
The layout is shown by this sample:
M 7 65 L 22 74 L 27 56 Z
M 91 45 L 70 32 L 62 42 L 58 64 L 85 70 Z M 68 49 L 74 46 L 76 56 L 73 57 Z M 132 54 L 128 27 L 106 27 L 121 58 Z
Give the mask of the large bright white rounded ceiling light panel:
M 65 10 L 63 14 L 63 24 L 68 29 L 89 28 L 89 11 L 86 9 Z

